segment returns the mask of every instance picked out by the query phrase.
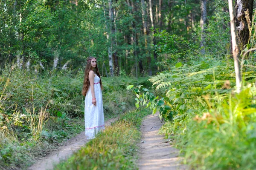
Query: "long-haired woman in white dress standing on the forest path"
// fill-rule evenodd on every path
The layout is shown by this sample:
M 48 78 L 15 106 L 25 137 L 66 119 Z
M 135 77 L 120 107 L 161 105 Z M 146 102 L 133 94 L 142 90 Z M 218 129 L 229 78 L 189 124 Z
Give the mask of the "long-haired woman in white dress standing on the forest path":
M 105 129 L 102 81 L 100 79 L 97 61 L 94 57 L 87 58 L 82 95 L 85 96 L 85 136 L 91 139 L 95 137 L 97 132 Z

